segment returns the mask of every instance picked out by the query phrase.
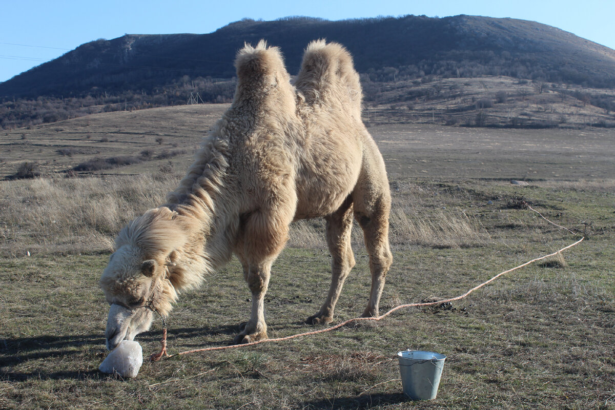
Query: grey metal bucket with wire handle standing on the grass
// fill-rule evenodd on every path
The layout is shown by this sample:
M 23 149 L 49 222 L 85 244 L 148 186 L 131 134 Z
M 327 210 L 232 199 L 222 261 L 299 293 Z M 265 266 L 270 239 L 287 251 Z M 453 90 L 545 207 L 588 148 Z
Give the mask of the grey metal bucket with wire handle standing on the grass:
M 412 400 L 433 400 L 438 394 L 445 355 L 421 350 L 397 353 L 403 393 Z

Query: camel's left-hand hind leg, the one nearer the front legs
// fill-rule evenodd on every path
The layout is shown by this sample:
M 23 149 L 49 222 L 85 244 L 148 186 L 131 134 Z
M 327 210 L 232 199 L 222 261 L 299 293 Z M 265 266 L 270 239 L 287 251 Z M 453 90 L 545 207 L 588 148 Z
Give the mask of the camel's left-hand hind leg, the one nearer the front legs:
M 319 312 L 306 320 L 311 325 L 326 325 L 333 321 L 333 311 L 338 301 L 344 281 L 355 264 L 351 247 L 352 199 L 343 205 L 327 220 L 327 244 L 331 253 L 331 286 L 325 303 Z

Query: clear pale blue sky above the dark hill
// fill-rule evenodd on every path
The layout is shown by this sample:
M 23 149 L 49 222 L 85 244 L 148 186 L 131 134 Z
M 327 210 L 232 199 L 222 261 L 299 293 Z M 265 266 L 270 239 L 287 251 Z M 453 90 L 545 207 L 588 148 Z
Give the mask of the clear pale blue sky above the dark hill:
M 126 33 L 211 33 L 244 17 L 341 20 L 407 14 L 533 20 L 615 49 L 615 0 L 0 0 L 0 82 L 85 42 Z

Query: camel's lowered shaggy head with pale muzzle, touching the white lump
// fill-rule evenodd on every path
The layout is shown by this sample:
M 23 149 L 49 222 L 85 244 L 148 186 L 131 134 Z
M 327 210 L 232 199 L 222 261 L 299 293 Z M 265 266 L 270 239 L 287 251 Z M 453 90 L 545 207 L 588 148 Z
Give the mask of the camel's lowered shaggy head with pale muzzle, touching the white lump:
M 168 208 L 150 210 L 130 222 L 116 239 L 116 251 L 103 271 L 100 286 L 111 306 L 105 331 L 107 349 L 133 340 L 151 326 L 154 312 L 169 314 L 177 293 L 169 280 L 170 251 L 160 242 L 175 242 L 181 233 L 170 223 Z

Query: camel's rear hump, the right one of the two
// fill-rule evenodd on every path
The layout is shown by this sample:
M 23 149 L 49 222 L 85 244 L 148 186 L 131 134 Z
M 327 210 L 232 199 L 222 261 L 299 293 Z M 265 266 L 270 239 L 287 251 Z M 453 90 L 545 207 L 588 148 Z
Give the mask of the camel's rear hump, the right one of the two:
M 343 104 L 360 117 L 363 93 L 348 50 L 323 39 L 306 47 L 295 87 L 310 104 Z

